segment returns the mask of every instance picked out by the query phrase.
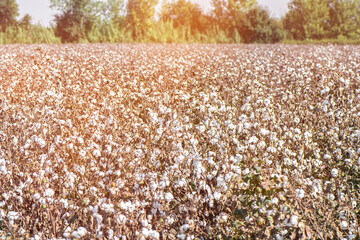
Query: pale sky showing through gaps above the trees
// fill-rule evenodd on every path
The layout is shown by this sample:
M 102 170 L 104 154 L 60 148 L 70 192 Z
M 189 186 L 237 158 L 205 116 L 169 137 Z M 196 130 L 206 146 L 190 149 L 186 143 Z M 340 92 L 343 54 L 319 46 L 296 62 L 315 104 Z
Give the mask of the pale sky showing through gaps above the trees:
M 30 14 L 32 23 L 40 23 L 43 26 L 50 26 L 54 19 L 55 11 L 50 9 L 50 0 L 17 0 L 19 5 L 20 18 Z M 210 0 L 192 0 L 198 3 L 205 11 L 211 8 Z M 258 0 L 258 3 L 270 10 L 272 17 L 285 15 L 289 0 Z

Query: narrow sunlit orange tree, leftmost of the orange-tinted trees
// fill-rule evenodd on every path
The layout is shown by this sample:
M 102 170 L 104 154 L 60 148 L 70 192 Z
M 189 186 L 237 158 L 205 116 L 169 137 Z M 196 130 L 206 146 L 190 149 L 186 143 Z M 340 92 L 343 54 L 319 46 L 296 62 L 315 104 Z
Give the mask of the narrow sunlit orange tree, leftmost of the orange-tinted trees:
M 155 24 L 157 0 L 128 0 L 126 24 L 134 40 L 147 40 Z

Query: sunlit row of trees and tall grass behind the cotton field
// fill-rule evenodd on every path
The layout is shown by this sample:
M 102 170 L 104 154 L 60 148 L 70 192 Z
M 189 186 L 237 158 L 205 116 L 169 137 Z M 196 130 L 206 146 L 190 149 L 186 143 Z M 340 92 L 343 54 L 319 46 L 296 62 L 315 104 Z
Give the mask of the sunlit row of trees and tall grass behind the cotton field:
M 204 12 L 189 0 L 51 0 L 51 27 L 0 0 L 0 42 L 274 43 L 360 39 L 360 0 L 291 0 L 281 19 L 256 0 L 212 0 Z

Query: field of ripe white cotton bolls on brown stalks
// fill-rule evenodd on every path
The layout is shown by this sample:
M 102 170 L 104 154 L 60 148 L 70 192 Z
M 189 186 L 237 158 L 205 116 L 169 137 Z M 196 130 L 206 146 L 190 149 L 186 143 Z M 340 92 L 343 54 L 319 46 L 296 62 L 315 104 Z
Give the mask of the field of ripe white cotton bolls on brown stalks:
M 1 239 L 360 237 L 360 47 L 0 52 Z

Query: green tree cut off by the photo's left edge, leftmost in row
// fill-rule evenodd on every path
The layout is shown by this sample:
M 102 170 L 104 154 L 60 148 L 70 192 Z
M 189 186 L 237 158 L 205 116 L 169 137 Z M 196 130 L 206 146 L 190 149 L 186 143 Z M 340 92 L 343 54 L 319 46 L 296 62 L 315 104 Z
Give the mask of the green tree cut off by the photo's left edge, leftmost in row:
M 19 6 L 15 0 L 0 0 L 0 27 L 4 32 L 8 26 L 17 23 L 16 17 L 19 15 Z

